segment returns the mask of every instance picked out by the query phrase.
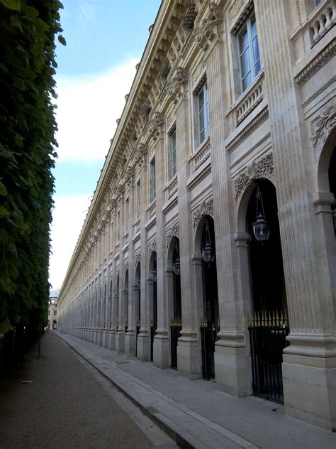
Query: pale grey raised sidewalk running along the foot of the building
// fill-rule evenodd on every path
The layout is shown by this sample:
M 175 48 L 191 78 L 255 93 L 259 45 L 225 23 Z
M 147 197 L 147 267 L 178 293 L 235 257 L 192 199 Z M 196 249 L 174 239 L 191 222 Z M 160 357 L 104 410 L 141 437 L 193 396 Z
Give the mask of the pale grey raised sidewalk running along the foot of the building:
M 336 435 L 284 416 L 284 407 L 235 398 L 214 382 L 190 381 L 173 369 L 120 355 L 57 332 L 181 445 L 189 448 L 335 449 Z

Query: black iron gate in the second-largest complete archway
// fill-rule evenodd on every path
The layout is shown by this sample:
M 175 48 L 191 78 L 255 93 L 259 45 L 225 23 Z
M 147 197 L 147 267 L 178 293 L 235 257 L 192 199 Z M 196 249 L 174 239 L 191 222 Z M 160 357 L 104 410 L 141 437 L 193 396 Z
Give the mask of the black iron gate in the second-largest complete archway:
M 215 342 L 217 330 L 215 323 L 201 321 L 202 374 L 203 379 L 215 377 Z

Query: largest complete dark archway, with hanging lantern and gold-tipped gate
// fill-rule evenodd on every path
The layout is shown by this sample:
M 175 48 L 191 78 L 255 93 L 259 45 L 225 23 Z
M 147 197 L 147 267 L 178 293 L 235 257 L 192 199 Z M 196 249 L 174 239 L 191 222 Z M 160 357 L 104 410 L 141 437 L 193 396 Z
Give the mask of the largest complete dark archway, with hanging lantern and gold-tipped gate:
M 289 326 L 276 189 L 269 180 L 256 181 L 246 225 L 250 234 L 252 389 L 256 396 L 283 403 L 281 363 Z

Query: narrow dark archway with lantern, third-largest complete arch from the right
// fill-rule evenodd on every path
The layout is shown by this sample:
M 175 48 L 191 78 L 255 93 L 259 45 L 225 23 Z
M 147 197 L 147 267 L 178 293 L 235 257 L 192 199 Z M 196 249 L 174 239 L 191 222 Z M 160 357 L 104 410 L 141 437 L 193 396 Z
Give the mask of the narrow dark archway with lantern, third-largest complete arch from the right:
M 172 270 L 172 318 L 170 320 L 170 348 L 171 348 L 171 366 L 177 369 L 177 342 L 182 330 L 182 308 L 181 308 L 181 265 L 179 258 L 179 239 L 173 237 L 169 247 L 168 265 L 173 267 Z

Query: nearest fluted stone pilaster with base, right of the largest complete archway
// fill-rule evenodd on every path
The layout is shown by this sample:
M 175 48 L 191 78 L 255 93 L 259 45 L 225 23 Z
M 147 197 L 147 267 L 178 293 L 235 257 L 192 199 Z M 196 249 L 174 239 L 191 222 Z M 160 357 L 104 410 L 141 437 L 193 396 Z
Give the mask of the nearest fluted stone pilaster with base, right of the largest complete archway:
M 291 343 L 284 350 L 286 413 L 325 428 L 335 428 L 336 350 L 330 297 L 318 278 L 316 220 L 305 171 L 312 151 L 302 123 L 301 94 L 293 79 L 292 48 L 285 2 L 256 0 L 257 26 L 274 154 L 274 174 L 284 259 Z M 279 26 L 279 23 L 284 26 Z M 276 48 L 276 51 L 274 49 Z M 279 70 L 281 67 L 281 70 Z M 332 380 L 334 379 L 334 380 Z

